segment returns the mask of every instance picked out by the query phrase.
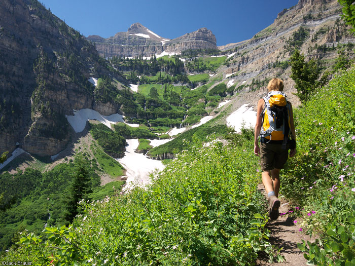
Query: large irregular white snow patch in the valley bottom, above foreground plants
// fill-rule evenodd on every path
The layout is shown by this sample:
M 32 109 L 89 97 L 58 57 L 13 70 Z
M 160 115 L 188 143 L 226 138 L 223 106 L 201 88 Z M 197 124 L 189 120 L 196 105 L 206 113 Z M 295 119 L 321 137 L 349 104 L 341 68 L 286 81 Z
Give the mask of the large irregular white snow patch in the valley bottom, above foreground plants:
M 128 146 L 124 157 L 116 159 L 126 169 L 126 185 L 123 191 L 129 191 L 135 186 L 144 186 L 150 183 L 149 173 L 154 170 L 163 170 L 161 161 L 147 158 L 144 154 L 135 153 L 138 147 L 138 139 L 126 139 Z

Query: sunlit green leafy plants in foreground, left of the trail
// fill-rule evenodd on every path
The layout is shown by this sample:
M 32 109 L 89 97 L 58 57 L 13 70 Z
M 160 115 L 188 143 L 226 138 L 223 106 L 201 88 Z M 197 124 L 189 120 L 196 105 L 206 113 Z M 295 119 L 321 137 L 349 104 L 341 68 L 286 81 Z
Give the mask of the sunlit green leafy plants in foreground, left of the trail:
M 277 252 L 267 242 L 264 198 L 248 174 L 256 170 L 257 159 L 243 151 L 252 146 L 249 141 L 240 148 L 220 142 L 192 147 L 147 189 L 83 203 L 85 212 L 75 226 L 48 228 L 48 240 L 24 235 L 17 257 L 34 254 L 35 265 L 51 259 L 108 265 L 252 264 L 261 251 L 272 258 Z

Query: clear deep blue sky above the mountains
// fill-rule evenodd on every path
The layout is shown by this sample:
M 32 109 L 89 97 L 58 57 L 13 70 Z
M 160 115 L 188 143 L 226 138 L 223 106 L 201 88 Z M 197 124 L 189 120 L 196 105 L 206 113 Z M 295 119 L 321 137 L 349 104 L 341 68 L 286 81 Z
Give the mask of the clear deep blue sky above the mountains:
M 206 27 L 217 45 L 250 39 L 273 23 L 277 13 L 298 0 L 40 0 L 46 8 L 83 35 L 110 37 L 139 22 L 174 39 Z

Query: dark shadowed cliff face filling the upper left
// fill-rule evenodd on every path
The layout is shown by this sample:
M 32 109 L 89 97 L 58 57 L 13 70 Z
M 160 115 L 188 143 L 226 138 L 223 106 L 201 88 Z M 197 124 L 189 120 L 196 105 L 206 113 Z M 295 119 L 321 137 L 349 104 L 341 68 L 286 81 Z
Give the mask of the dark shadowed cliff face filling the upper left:
M 88 79 L 109 75 L 95 48 L 37 1 L 0 2 L 0 58 L 0 154 L 17 142 L 32 154 L 57 154 L 73 109 L 117 111 L 94 100 Z

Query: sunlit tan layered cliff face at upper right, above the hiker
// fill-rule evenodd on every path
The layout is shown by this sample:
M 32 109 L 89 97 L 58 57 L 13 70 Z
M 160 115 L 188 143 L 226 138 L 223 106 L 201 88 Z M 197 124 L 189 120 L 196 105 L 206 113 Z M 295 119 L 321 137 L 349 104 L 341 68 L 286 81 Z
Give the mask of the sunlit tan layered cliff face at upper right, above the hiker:
M 341 46 L 355 43 L 355 37 L 341 21 L 340 14 L 341 7 L 336 0 L 300 0 L 295 7 L 280 12 L 274 23 L 255 34 L 253 39 L 219 47 L 227 54 L 234 53 L 218 71 L 234 80 L 236 88 L 243 85 L 238 96 L 239 106 L 246 102 L 254 104 L 255 99 L 265 93 L 267 84 L 252 91 L 253 82 L 266 83 L 274 77 L 285 81 L 289 99 L 299 104 L 298 98 L 292 94 L 296 90 L 289 78 L 291 67 L 287 62 L 297 48 L 306 56 L 306 60 L 319 59 L 325 67 L 334 63 Z M 293 41 L 300 28 L 306 34 L 295 47 Z M 352 51 L 348 53 L 350 57 L 355 56 Z

